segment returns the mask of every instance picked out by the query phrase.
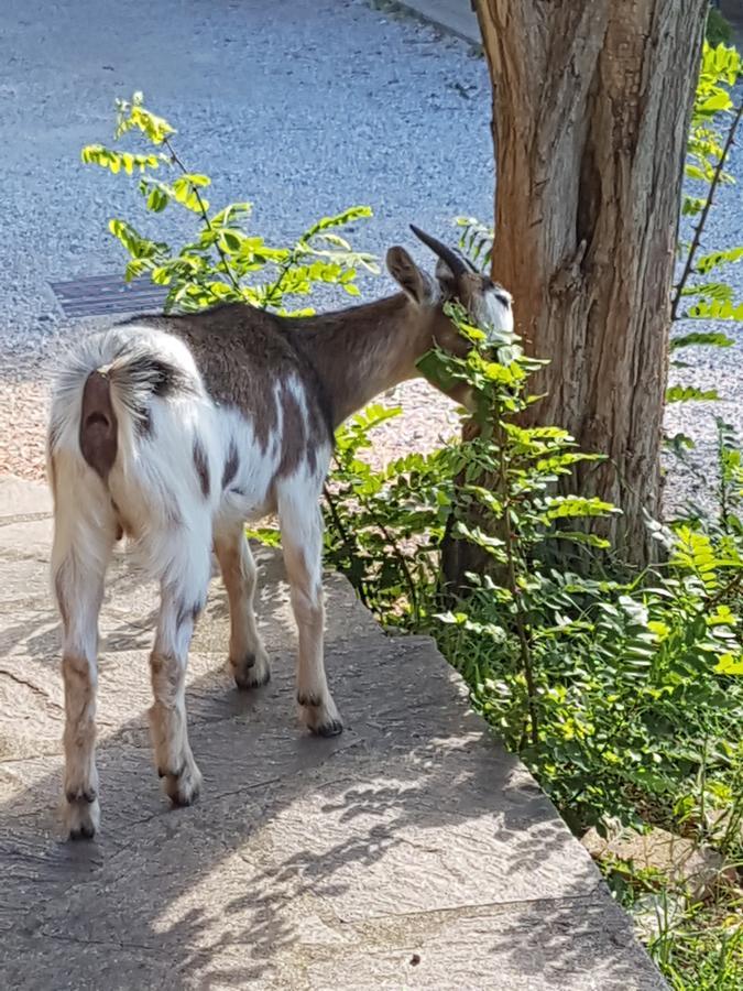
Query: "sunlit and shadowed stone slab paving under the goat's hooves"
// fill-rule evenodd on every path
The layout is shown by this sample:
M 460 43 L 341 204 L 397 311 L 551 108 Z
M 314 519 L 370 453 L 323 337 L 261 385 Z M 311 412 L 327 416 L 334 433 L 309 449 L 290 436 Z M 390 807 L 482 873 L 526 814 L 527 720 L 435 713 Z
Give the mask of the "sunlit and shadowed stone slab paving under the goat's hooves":
M 201 801 L 171 810 L 145 710 L 153 589 L 112 568 L 101 617 L 102 820 L 64 841 L 50 499 L 0 479 L 0 988 L 664 985 L 586 851 L 467 710 L 426 638 L 387 638 L 328 576 L 346 732 L 305 736 L 277 558 L 260 552 L 270 686 L 225 671 L 214 582 L 192 653 Z

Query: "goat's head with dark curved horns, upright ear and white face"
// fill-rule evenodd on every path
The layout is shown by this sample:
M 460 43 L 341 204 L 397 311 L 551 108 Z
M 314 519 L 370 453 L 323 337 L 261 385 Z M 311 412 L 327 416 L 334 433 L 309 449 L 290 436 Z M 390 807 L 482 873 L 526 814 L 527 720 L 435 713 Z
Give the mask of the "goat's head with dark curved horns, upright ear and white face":
M 511 293 L 481 275 L 459 252 L 413 225 L 411 229 L 436 254 L 435 277 L 419 269 L 404 248 L 391 248 L 386 262 L 390 274 L 417 309 L 416 325 L 424 349 L 438 345 L 454 355 L 467 352 L 469 345 L 444 312 L 444 304 L 455 300 L 483 330 L 512 331 Z

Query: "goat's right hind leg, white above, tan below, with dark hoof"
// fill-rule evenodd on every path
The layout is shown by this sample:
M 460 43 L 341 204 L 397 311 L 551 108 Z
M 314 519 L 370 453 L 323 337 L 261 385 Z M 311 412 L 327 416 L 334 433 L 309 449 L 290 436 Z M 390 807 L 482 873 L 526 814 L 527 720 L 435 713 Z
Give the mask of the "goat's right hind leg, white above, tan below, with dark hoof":
M 198 537 L 198 538 L 196 538 Z M 159 775 L 174 805 L 190 805 L 201 787 L 201 773 L 188 743 L 186 665 L 194 624 L 206 602 L 210 535 L 177 533 L 168 574 L 161 580 L 155 643 L 150 655 L 154 704 L 150 730 Z

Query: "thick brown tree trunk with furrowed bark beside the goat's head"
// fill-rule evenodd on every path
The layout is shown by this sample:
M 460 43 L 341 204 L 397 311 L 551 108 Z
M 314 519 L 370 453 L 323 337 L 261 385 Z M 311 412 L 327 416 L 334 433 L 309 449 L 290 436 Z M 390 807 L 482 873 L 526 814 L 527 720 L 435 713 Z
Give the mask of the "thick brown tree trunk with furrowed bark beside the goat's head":
M 550 359 L 532 422 L 609 461 L 570 484 L 621 507 L 643 565 L 660 444 L 684 156 L 707 0 L 479 0 L 493 83 L 493 276 Z

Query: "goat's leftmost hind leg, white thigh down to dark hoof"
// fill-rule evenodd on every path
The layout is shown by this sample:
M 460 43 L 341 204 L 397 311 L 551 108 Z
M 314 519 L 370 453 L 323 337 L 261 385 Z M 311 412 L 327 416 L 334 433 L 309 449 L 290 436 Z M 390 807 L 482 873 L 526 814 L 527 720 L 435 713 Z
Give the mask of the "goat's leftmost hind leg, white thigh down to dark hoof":
M 67 469 L 67 470 L 66 470 Z M 55 458 L 52 578 L 63 622 L 65 774 L 63 816 L 70 839 L 98 828 L 96 687 L 98 613 L 116 518 L 99 479 Z

